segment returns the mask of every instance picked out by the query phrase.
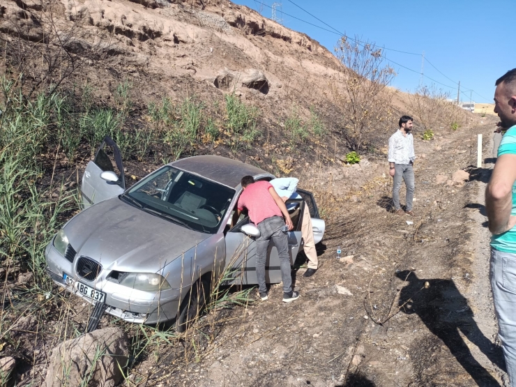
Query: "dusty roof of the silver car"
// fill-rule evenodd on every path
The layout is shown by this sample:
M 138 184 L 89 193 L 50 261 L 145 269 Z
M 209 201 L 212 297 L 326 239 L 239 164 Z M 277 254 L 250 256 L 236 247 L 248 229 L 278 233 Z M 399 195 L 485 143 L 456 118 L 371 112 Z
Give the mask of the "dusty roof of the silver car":
M 268 175 L 273 177 L 272 174 L 253 165 L 216 155 L 192 156 L 171 162 L 170 165 L 232 188 L 240 185 L 243 176 Z

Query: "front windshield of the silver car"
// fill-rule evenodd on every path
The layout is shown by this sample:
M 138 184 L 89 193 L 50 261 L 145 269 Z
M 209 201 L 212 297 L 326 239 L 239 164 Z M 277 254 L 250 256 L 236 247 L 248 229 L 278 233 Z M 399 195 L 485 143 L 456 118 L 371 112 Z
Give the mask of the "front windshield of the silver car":
M 199 232 L 215 234 L 235 190 L 165 166 L 135 184 L 121 197 L 161 218 Z

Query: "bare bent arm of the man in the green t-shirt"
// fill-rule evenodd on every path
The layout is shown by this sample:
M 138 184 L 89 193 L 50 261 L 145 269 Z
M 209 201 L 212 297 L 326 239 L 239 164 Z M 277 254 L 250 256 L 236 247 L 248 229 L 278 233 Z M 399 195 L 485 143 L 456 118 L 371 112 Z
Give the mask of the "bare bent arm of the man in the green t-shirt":
M 485 189 L 485 208 L 489 230 L 494 235 L 502 234 L 516 225 L 516 216 L 510 215 L 513 208 L 513 184 L 516 181 L 516 154 L 501 155 L 494 165 L 490 182 Z

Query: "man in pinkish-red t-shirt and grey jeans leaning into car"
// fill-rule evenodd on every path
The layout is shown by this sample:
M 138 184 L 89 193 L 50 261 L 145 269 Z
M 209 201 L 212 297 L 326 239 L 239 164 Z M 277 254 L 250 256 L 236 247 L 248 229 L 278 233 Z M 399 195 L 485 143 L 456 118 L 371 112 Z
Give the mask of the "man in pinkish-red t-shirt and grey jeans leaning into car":
M 289 242 L 282 227 L 294 228 L 289 212 L 281 197 L 268 181 L 257 181 L 252 176 L 243 176 L 241 180 L 243 192 L 238 198 L 233 224 L 240 216 L 243 208 L 249 211 L 251 222 L 257 225 L 260 236 L 256 238 L 256 276 L 261 300 L 268 298 L 265 282 L 265 262 L 268 243 L 274 242 L 280 257 L 281 279 L 283 282 L 283 302 L 289 303 L 299 298 L 299 292 L 292 289 L 292 277 L 289 257 Z M 283 218 L 284 216 L 284 218 Z

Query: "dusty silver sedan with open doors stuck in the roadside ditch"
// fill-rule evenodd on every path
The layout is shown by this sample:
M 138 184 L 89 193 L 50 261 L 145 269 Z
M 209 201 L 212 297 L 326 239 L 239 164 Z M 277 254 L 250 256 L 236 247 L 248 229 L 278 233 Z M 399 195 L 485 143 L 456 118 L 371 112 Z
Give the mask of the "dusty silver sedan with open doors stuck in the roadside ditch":
M 119 149 L 106 137 L 84 171 L 84 211 L 47 245 L 47 273 L 101 313 L 137 324 L 176 321 L 181 330 L 222 273 L 225 284 L 257 283 L 257 227 L 245 215 L 231 225 L 245 175 L 275 178 L 240 161 L 201 155 L 160 167 L 126 190 Z M 287 202 L 292 262 L 303 250 L 303 206 L 309 206 L 316 243 L 325 229 L 312 194 L 298 193 L 303 199 Z M 281 282 L 272 244 L 266 278 Z

